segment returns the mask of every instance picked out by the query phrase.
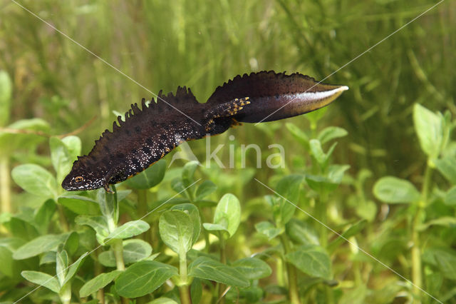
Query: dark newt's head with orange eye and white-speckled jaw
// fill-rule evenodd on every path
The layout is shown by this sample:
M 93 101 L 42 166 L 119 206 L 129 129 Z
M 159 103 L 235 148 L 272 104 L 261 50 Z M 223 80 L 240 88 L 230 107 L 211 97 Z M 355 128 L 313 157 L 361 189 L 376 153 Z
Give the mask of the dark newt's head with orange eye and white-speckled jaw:
M 82 191 L 105 186 L 105 175 L 100 170 L 97 170 L 97 167 L 96 165 L 91 167 L 83 166 L 83 159 L 78 157 L 78 160 L 73 163 L 73 168 L 71 168 L 68 176 L 63 179 L 62 187 L 66 191 Z

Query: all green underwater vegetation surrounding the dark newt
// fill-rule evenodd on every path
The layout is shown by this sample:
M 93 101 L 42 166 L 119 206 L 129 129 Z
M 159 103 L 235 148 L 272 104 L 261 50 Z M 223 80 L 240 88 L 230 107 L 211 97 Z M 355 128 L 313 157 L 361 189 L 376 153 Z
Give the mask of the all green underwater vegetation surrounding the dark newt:
M 1 2 L 0 301 L 456 303 L 455 13 Z M 130 104 L 271 70 L 350 90 L 185 141 L 112 193 L 61 187 Z

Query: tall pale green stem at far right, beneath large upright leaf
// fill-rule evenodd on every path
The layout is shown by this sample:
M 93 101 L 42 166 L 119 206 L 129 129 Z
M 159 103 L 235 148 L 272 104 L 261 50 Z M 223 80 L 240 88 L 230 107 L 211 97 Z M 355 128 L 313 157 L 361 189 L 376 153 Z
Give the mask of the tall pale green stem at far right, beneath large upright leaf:
M 423 188 L 421 189 L 421 200 L 417 204 L 415 216 L 413 218 L 412 226 L 412 281 L 413 281 L 413 293 L 420 295 L 420 288 L 423 286 L 423 269 L 421 263 L 421 245 L 420 245 L 420 232 L 418 228 L 422 223 L 424 207 L 427 205 L 427 197 L 429 196 L 429 188 L 432 176 L 432 168 L 429 166 L 427 161 L 425 176 L 423 180 Z M 420 300 L 416 300 L 419 303 Z

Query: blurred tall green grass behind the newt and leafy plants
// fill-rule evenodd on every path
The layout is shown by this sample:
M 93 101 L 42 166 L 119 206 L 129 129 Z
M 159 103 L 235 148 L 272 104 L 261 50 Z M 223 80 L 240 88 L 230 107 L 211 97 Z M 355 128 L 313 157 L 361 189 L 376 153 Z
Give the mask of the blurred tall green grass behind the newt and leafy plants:
M 177 86 L 186 85 L 204 102 L 224 81 L 251 71 L 299 71 L 325 78 L 435 2 L 20 3 L 150 91 L 175 91 Z M 111 126 L 113 110 L 123 112 L 130 103 L 153 97 L 16 4 L 1 1 L 0 8 L 0 69 L 9 73 L 14 84 L 10 123 L 40 117 L 51 123 L 51 133 L 57 135 L 97 116 L 78 134 L 83 152 L 88 153 L 93 141 Z M 361 189 L 368 193 L 366 199 L 373 199 L 373 182 L 381 176 L 407 178 L 418 185 L 422 181 L 425 156 L 416 153 L 420 148 L 413 131 L 413 103 L 422 103 L 432 111 L 447 109 L 455 116 L 455 18 L 455 2 L 444 1 L 325 81 L 350 87 L 328 108 L 322 124 L 348 131 L 349 136 L 338 143 L 335 163 L 350 164 L 352 176 L 361 170 L 372 173 Z M 302 116 L 289 122 L 309 128 L 309 121 Z M 280 143 L 289 164 L 304 159 L 301 146 L 284 121 L 244 125 L 211 141 L 215 146 L 229 144 L 229 135 L 236 136 L 237 144 L 257 143 L 266 151 L 269 144 Z M 204 159 L 204 141 L 191 142 L 190 147 Z M 47 155 L 46 149 L 46 145 L 40 146 L 32 161 L 48 166 L 49 159 L 39 157 Z M 11 154 L 11 167 L 24 163 L 24 157 L 32 158 L 20 152 Z M 228 153 L 227 149 L 220 153 L 225 161 Z M 254 158 L 251 160 L 253 163 Z M 227 168 L 224 181 L 217 182 L 218 170 L 207 174 L 221 192 L 234 192 L 242 202 L 264 195 L 265 189 L 250 181 L 252 176 L 267 181 L 274 175 L 268 168 Z M 245 181 L 233 182 L 239 178 Z M 438 176 L 436 182 L 442 182 Z M 354 209 L 345 208 L 343 203 L 350 191 L 349 187 L 342 188 L 335 199 L 347 217 Z M 370 231 L 387 229 L 381 221 L 379 216 Z M 377 254 L 388 258 L 388 250 L 382 250 Z M 378 280 L 372 283 L 381 285 Z

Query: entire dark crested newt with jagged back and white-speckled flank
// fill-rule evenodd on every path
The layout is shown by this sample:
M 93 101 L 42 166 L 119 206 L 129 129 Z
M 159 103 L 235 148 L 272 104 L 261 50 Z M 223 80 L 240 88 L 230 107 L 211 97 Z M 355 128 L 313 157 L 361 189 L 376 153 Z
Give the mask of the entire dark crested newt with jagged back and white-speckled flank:
M 227 131 L 237 122 L 275 121 L 314 111 L 336 99 L 346 86 L 318 83 L 301 74 L 261 71 L 236 76 L 219 86 L 206 103 L 190 88 L 158 94 L 157 103 L 135 103 L 106 130 L 88 156 L 78 157 L 62 183 L 67 191 L 90 190 L 125 181 L 183 141 Z

